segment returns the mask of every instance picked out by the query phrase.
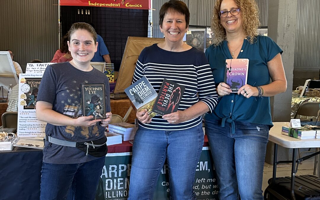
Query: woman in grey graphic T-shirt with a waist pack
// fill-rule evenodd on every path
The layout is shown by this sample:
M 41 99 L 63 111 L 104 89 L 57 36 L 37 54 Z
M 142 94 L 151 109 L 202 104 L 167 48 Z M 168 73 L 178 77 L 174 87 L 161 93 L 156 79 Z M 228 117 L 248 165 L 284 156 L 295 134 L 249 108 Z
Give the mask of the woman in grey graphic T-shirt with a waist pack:
M 95 30 L 74 23 L 69 30 L 72 60 L 47 66 L 41 79 L 36 116 L 47 122 L 40 199 L 65 199 L 72 187 L 75 199 L 93 200 L 108 148 L 104 135 L 111 120 L 108 77 L 93 68 Z M 81 84 L 104 84 L 106 119 L 82 116 Z

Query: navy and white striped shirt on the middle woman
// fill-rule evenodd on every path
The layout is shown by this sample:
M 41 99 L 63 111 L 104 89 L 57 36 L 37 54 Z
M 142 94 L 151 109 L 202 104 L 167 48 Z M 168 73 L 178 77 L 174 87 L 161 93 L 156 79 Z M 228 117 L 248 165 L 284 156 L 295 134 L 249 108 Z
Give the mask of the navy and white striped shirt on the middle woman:
M 178 110 L 185 110 L 196 104 L 199 100 L 204 102 L 212 112 L 217 105 L 218 95 L 214 78 L 204 52 L 191 48 L 184 52 L 166 51 L 153 44 L 140 53 L 134 71 L 132 83 L 142 76 L 146 76 L 150 84 L 159 92 L 163 80 L 169 79 L 186 87 Z M 156 115 L 150 124 L 139 125 L 156 130 L 184 130 L 194 127 L 202 122 L 202 117 L 170 124 L 162 116 Z

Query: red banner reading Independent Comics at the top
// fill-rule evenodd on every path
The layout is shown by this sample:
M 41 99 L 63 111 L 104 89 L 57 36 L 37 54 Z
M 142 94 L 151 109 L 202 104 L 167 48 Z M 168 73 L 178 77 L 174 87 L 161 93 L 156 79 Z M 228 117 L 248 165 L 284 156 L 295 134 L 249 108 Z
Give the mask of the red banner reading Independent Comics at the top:
M 151 0 L 60 0 L 60 5 L 151 9 Z

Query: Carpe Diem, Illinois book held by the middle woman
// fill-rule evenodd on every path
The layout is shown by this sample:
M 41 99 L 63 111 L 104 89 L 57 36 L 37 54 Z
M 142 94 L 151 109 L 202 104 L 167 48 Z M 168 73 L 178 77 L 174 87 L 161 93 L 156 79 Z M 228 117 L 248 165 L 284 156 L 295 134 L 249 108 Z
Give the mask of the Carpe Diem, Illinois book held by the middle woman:
M 158 94 L 145 76 L 127 87 L 124 92 L 128 95 L 137 112 L 147 109 L 151 118 L 156 116 L 156 113 L 152 112 L 152 107 Z

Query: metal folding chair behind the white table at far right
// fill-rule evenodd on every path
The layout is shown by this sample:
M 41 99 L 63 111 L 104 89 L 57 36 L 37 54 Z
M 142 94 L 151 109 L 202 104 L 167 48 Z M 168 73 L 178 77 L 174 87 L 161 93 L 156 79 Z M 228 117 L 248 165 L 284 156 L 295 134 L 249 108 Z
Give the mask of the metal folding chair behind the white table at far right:
M 294 115 L 294 119 L 297 119 L 298 115 L 302 115 L 302 116 L 319 116 L 319 111 L 320 111 L 320 102 L 303 102 L 296 114 Z M 311 149 L 309 148 L 308 151 L 304 151 L 304 152 L 300 152 L 300 148 L 298 148 L 298 154 L 299 154 L 299 158 L 301 158 L 301 154 L 303 153 L 307 153 L 307 152 L 313 152 L 310 151 Z M 316 148 L 316 152 L 319 151 L 319 148 Z M 319 172 L 320 172 L 320 164 L 318 161 L 319 156 L 315 156 L 315 165 L 314 165 L 314 169 L 313 169 L 313 174 L 316 174 L 316 166 L 318 163 L 318 177 L 320 177 Z

